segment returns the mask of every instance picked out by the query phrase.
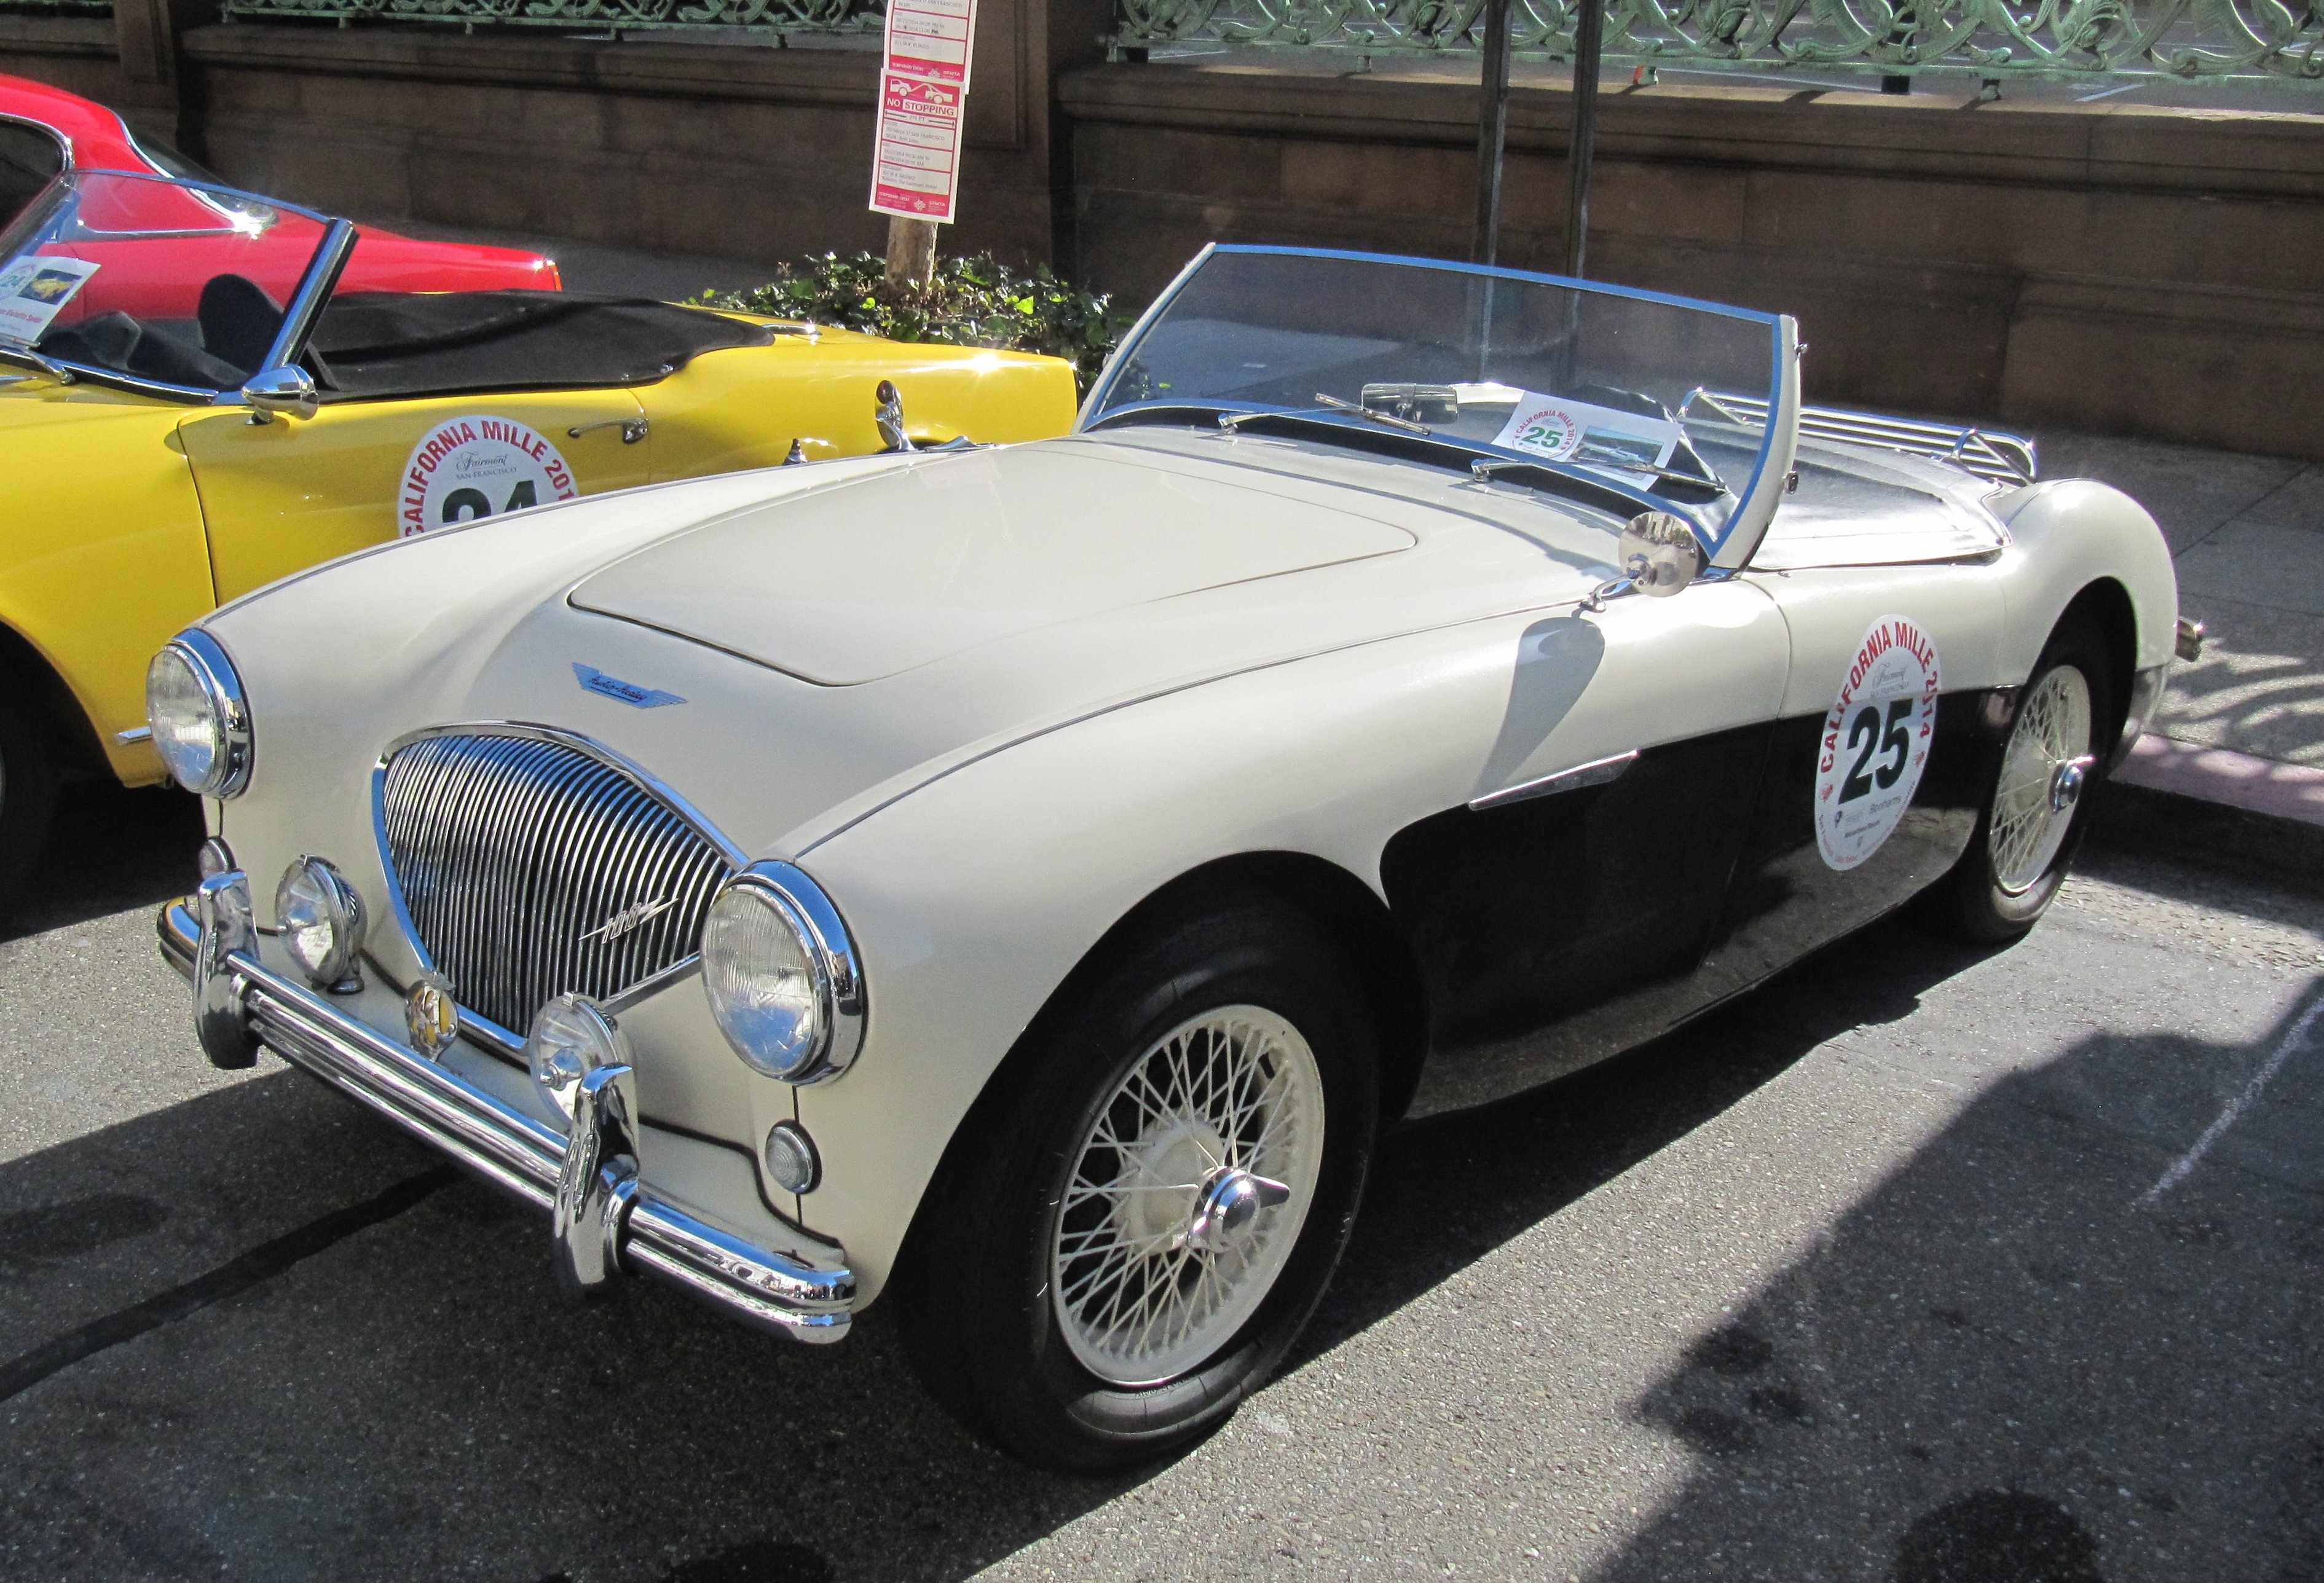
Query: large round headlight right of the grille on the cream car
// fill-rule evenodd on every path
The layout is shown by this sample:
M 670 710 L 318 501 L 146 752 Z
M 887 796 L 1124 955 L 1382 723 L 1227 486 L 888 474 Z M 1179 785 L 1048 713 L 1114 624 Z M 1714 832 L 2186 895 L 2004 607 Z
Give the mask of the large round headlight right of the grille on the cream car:
M 862 1044 L 862 983 L 846 925 L 788 862 L 751 865 L 711 902 L 702 983 L 727 1044 L 767 1076 L 834 1076 Z

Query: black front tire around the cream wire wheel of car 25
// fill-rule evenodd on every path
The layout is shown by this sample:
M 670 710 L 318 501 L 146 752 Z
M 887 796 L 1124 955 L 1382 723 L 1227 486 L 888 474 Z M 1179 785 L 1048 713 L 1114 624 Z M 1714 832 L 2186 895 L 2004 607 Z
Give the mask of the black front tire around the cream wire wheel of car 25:
M 1109 1383 L 1076 1358 L 1053 1302 L 1067 1183 L 1129 1069 L 1225 1007 L 1271 1011 L 1313 1051 L 1325 1127 L 1306 1216 L 1232 1337 L 1164 1381 Z M 913 1369 L 969 1430 L 1037 1467 L 1099 1471 L 1188 1446 L 1306 1327 L 1355 1223 L 1376 1127 L 1369 1007 L 1306 914 L 1253 900 L 1146 930 L 1011 1053 L 930 1186 L 892 1283 Z

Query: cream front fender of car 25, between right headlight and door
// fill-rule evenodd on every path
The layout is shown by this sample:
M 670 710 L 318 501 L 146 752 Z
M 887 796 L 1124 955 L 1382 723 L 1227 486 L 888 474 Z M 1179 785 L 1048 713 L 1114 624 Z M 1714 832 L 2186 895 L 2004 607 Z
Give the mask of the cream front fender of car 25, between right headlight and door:
M 1703 618 L 1713 602 L 1722 621 Z M 1604 644 L 1585 658 L 1536 653 L 1573 616 L 1532 609 L 1241 672 L 967 762 L 806 844 L 795 860 L 846 916 L 869 995 L 855 1065 L 797 1090 L 825 1162 L 809 1227 L 846 1244 L 874 1295 L 992 1072 L 1169 881 L 1301 853 L 1378 895 L 1380 851 L 1420 818 L 1771 714 L 1780 665 L 1734 662 L 1724 623 L 1745 618 L 1776 623 L 1752 588 L 1703 588 L 1590 616 Z M 1569 686 L 1538 688 L 1536 662 L 1573 669 Z

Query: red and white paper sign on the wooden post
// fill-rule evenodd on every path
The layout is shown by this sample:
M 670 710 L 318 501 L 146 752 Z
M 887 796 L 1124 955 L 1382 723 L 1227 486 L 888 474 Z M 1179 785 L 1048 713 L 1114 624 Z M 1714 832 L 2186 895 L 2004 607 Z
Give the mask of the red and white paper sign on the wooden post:
M 871 149 L 876 214 L 951 223 L 974 35 L 976 0 L 890 0 Z

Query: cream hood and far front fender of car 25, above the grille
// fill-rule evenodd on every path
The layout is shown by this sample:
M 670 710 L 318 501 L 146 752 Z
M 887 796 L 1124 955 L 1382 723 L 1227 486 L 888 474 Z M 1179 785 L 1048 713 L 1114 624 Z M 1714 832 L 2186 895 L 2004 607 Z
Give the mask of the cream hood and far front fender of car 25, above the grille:
M 627 755 L 744 851 L 797 855 L 1074 721 L 1573 602 L 1613 551 L 1615 523 L 1527 490 L 1160 430 L 597 495 L 211 616 L 260 737 L 228 823 L 358 851 L 383 748 L 523 721 Z

